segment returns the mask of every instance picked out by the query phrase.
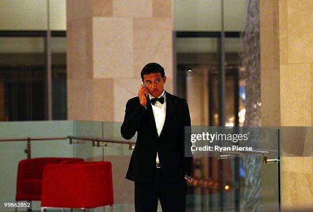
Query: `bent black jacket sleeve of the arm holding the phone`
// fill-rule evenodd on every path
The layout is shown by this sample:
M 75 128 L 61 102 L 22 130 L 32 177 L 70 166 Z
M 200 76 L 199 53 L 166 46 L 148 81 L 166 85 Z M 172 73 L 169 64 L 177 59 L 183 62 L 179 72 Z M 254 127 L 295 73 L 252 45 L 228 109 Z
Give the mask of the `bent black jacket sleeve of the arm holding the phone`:
M 134 105 L 130 100 L 127 101 L 124 121 L 121 126 L 123 138 L 129 140 L 135 135 L 145 110 L 146 107 L 142 104 Z

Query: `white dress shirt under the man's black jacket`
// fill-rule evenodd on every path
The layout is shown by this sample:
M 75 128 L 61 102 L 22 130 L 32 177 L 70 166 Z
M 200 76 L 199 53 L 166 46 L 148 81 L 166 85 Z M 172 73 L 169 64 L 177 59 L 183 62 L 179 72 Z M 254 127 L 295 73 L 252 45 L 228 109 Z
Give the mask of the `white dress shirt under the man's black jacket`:
M 155 98 L 149 93 L 150 100 Z M 154 105 L 152 105 L 152 111 L 153 116 L 155 120 L 155 126 L 157 127 L 158 135 L 160 136 L 164 122 L 165 122 L 165 115 L 166 115 L 166 93 L 165 90 L 163 90 L 163 93 L 158 97 L 161 98 L 164 97 L 164 103 L 161 104 L 159 101 L 155 102 Z M 156 162 L 159 162 L 159 155 L 157 152 L 157 158 L 155 159 Z

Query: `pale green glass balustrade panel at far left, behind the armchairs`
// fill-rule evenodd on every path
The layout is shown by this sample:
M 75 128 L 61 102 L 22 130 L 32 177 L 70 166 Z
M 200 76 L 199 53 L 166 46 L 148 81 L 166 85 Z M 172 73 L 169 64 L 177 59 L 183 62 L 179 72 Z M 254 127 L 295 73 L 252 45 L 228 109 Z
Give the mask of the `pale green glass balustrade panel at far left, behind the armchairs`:
M 17 137 L 66 137 L 73 135 L 73 121 L 0 122 L 0 138 Z M 68 139 L 34 140 L 31 157 L 73 157 L 73 146 Z M 27 158 L 27 142 L 0 142 L 0 211 L 14 211 L 4 206 L 15 202 L 18 162 Z M 33 201 L 32 208 L 40 211 L 40 201 Z M 25 209 L 25 208 L 23 208 Z M 18 211 L 22 211 L 19 208 Z

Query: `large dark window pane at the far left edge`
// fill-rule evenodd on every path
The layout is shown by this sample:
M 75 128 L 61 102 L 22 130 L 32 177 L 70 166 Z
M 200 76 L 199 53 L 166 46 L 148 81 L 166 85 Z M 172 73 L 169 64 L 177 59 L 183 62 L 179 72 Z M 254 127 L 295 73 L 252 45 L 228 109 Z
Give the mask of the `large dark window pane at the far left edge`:
M 43 38 L 0 38 L 0 121 L 44 120 Z

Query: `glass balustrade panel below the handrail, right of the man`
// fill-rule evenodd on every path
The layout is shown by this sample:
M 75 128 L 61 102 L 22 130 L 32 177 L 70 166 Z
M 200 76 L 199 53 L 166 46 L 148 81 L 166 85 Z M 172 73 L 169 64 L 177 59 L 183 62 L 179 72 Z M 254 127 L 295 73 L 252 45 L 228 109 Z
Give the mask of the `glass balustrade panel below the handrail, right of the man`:
M 261 156 L 249 155 L 194 157 L 194 162 L 188 211 L 279 211 L 277 163 L 262 164 Z

